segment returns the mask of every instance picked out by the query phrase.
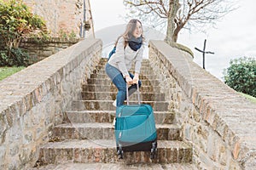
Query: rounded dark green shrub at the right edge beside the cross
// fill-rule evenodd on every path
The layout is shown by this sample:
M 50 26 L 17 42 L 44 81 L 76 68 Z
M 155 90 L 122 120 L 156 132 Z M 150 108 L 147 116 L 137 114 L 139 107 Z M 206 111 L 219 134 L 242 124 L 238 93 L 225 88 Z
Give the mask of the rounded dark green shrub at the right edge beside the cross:
M 224 82 L 238 92 L 256 97 L 256 59 L 231 59 L 230 67 L 224 71 Z

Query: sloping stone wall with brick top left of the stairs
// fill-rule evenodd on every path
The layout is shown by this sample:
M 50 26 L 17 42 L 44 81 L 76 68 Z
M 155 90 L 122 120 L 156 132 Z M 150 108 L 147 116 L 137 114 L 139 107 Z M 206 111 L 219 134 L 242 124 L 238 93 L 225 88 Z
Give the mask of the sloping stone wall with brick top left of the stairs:
M 35 164 L 101 54 L 102 42 L 86 39 L 0 82 L 0 169 Z

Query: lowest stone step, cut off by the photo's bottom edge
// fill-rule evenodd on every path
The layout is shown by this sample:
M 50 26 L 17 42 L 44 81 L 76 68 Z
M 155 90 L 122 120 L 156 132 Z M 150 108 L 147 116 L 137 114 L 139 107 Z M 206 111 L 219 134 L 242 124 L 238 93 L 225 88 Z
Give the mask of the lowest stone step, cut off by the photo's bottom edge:
M 125 160 L 117 163 L 75 163 L 61 162 L 60 164 L 49 164 L 40 167 L 33 167 L 28 170 L 92 170 L 92 169 L 119 169 L 119 170 L 196 170 L 195 164 L 192 163 L 125 163 Z

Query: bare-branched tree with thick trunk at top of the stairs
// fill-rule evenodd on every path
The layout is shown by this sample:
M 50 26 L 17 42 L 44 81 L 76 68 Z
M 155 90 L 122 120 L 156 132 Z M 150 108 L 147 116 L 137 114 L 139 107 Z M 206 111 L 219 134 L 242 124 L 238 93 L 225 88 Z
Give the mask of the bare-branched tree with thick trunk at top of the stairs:
M 124 3 L 131 16 L 149 26 L 164 28 L 167 21 L 166 42 L 177 42 L 183 28 L 214 25 L 215 20 L 235 9 L 235 3 L 229 0 L 124 0 Z

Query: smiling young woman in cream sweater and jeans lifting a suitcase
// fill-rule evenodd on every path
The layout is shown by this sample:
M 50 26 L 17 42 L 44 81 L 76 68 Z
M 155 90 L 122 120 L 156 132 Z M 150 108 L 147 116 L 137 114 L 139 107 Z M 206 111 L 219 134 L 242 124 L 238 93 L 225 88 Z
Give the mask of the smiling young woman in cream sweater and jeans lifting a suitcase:
M 137 83 L 139 87 L 142 86 L 139 73 L 143 60 L 143 41 L 142 23 L 136 19 L 130 20 L 125 33 L 118 39 L 116 52 L 108 60 L 105 67 L 108 77 L 119 90 L 116 101 L 113 103 L 117 107 L 123 105 L 126 99 L 126 84 L 131 85 L 128 88 L 129 95 L 137 90 Z M 129 72 L 132 62 L 135 64 L 134 75 Z

